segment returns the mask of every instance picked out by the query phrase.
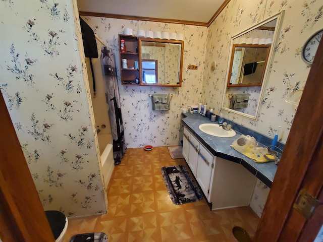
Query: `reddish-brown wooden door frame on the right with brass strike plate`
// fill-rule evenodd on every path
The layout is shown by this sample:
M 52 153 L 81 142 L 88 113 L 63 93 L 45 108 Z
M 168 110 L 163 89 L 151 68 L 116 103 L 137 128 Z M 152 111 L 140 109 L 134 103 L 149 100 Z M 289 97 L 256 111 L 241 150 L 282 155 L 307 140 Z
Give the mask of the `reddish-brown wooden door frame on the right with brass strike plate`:
M 307 239 L 319 231 L 320 226 L 316 226 L 310 229 L 311 235 L 305 233 L 309 231 L 304 227 L 307 221 L 293 209 L 293 204 L 300 189 L 305 188 L 315 198 L 322 189 L 323 169 L 319 163 L 323 160 L 322 76 L 321 42 L 253 241 L 312 241 Z M 322 223 L 322 219 L 316 221 Z M 305 240 L 298 240 L 300 236 Z

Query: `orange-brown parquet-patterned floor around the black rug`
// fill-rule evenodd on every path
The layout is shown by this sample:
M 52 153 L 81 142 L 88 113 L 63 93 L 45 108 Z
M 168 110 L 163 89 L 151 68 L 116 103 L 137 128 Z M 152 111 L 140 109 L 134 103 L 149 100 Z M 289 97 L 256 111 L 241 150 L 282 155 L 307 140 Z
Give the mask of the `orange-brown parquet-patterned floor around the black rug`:
M 87 232 L 104 232 L 109 242 L 235 242 L 234 226 L 254 235 L 259 218 L 250 207 L 210 211 L 204 198 L 173 204 L 160 171 L 172 165 L 187 167 L 183 158 L 172 159 L 167 147 L 127 149 L 106 189 L 107 214 L 70 218 L 64 242 Z

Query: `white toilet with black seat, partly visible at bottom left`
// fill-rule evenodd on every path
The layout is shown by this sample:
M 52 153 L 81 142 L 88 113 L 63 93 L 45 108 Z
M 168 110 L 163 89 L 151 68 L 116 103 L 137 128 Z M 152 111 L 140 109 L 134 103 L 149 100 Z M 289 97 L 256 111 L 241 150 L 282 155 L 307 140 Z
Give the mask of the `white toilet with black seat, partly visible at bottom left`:
M 51 231 L 56 242 L 62 242 L 68 226 L 68 219 L 64 213 L 55 210 L 45 211 Z

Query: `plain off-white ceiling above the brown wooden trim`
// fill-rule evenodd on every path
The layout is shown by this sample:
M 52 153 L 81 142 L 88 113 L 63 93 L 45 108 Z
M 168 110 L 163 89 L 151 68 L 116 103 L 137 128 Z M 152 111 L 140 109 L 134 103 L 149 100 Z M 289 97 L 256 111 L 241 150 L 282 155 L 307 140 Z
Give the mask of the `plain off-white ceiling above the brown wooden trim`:
M 207 23 L 225 0 L 77 0 L 79 11 Z

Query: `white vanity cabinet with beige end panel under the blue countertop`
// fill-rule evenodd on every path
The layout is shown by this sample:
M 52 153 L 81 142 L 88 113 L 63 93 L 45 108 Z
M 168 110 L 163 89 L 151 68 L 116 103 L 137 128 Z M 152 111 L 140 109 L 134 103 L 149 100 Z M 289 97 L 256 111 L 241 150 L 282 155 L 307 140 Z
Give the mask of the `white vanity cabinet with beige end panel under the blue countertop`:
M 183 156 L 212 210 L 249 206 L 257 178 L 240 163 L 213 156 L 185 127 Z

